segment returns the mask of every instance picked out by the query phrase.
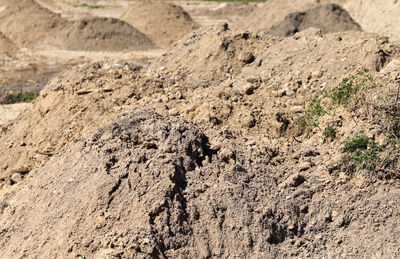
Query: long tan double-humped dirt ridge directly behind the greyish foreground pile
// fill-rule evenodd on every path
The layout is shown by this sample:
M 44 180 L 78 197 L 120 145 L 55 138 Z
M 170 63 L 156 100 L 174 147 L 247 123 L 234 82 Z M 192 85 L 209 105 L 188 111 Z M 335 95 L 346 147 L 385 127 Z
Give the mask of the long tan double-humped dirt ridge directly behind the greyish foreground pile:
M 1 178 L 29 172 L 74 138 L 117 119 L 128 105 L 247 136 L 285 136 L 321 91 L 356 68 L 381 69 L 398 52 L 362 32 L 302 33 L 278 40 L 221 25 L 188 36 L 143 72 L 107 62 L 73 69 L 3 133 Z

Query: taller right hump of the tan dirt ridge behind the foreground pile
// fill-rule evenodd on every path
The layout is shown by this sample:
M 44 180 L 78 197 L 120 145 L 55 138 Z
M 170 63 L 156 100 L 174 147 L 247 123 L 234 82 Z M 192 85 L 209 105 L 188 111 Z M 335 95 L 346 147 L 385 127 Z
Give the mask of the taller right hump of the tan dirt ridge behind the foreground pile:
M 280 136 L 307 101 L 357 68 L 380 70 L 397 53 L 387 39 L 363 32 L 309 29 L 277 39 L 220 26 L 186 37 L 148 73 L 166 82 L 160 112 L 166 105 L 198 123 Z

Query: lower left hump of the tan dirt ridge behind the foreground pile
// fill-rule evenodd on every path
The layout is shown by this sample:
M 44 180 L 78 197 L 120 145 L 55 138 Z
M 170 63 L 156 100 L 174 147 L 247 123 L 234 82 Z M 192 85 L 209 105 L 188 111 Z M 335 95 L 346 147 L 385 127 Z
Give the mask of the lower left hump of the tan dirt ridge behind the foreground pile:
M 125 62 L 95 62 L 51 81 L 32 107 L 0 132 L 0 178 L 29 172 L 82 134 L 119 118 L 130 99 L 148 91 L 137 70 Z

